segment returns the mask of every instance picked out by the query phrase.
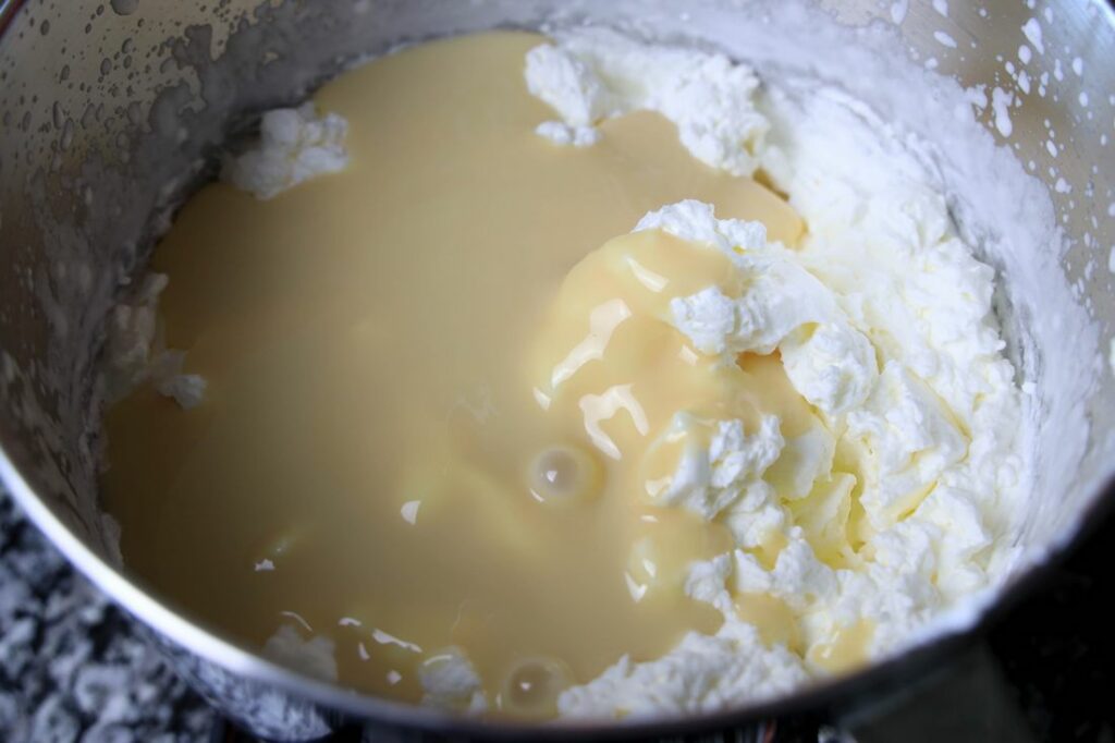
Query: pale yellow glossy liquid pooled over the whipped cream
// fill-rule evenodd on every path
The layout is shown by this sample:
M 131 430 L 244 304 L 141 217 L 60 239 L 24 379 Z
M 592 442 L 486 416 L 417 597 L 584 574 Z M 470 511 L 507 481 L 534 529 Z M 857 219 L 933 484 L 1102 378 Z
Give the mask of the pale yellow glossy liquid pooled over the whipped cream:
M 553 118 L 523 81 L 541 41 L 456 38 L 342 75 L 316 100 L 349 122 L 347 171 L 265 202 L 224 184 L 196 194 L 153 268 L 171 278 L 166 344 L 187 350 L 206 399 L 183 411 L 144 388 L 107 416 L 104 492 L 129 570 L 253 647 L 297 612 L 336 640 L 341 682 L 372 693 L 417 701 L 423 657 L 458 646 L 498 703 L 524 659 L 584 683 L 623 654 L 658 657 L 719 624 L 680 589 L 634 599 L 640 540 L 672 566 L 668 587 L 730 540 L 647 504 L 634 460 L 603 452 L 575 414 L 586 377 L 566 385 L 576 397 L 544 389 L 579 340 L 552 308 L 582 258 L 663 204 L 709 202 L 787 244 L 802 225 L 762 186 L 695 161 L 656 115 L 607 122 L 584 149 L 535 135 Z M 723 278 L 715 258 L 687 273 L 678 260 L 697 260 L 694 249 L 663 240 L 621 248 L 688 276 L 675 293 Z M 617 296 L 643 301 L 623 281 Z M 681 348 L 677 334 L 648 332 L 627 348 Z M 656 428 L 603 423 L 621 450 L 646 450 L 678 403 L 667 367 L 641 361 L 608 373 L 630 367 Z M 707 397 L 698 382 L 675 397 L 794 425 L 777 359 L 731 374 L 741 399 Z M 549 413 L 539 392 L 554 397 Z M 532 494 L 531 463 L 553 446 L 589 452 L 594 492 L 569 503 Z M 263 559 L 273 571 L 254 569 Z

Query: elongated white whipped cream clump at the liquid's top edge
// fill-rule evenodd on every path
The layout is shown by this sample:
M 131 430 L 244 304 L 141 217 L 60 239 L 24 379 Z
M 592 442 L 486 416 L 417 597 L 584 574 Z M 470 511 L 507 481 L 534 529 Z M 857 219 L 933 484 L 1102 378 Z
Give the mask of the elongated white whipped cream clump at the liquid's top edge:
M 566 126 L 581 131 L 633 110 L 655 110 L 678 126 L 697 160 L 734 175 L 755 172 L 767 120 L 755 110 L 759 80 L 749 67 L 601 28 L 553 36 L 554 45 L 526 56 L 526 85 Z M 547 126 L 542 134 L 553 139 L 553 132 Z

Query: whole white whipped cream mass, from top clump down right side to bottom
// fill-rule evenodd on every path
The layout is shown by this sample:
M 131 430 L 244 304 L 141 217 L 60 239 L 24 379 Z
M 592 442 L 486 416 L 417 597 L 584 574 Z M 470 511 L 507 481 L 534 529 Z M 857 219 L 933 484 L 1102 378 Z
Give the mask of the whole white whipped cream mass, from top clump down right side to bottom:
M 642 59 L 651 70 L 646 76 L 624 68 L 631 71 L 620 76 L 622 88 L 670 90 L 653 76 L 677 50 L 600 31 L 569 31 L 555 44 L 535 50 L 527 80 L 566 123 L 671 108 L 604 103 L 614 94 L 601 79 L 619 74 L 593 70 L 619 66 L 602 61 L 614 57 L 660 54 L 662 67 Z M 690 69 L 750 75 L 740 66 L 704 66 L 695 60 L 701 52 L 687 54 Z M 746 633 L 736 628 L 731 592 L 784 601 L 799 618 L 805 647 L 823 647 L 870 623 L 867 652 L 879 657 L 992 586 L 1015 558 L 1024 421 L 991 309 L 993 271 L 957 235 L 933 178 L 861 104 L 823 88 L 808 98 L 775 89 L 756 100 L 755 89 L 746 94 L 746 109 L 764 119 L 752 129 L 764 135 L 754 139 L 749 170 L 701 157 L 680 123 L 679 132 L 705 162 L 734 173 L 760 166 L 805 219 L 803 244 L 767 243 L 762 225 L 716 220 L 711 208 L 695 202 L 648 214 L 637 229 L 665 230 L 731 255 L 748 276 L 747 290 L 731 298 L 708 289 L 676 300 L 675 326 L 698 351 L 726 363 L 740 351 L 778 350 L 791 383 L 824 423 L 824 432 L 792 443 L 797 466 L 791 471 L 775 467 L 764 480 L 766 467 L 736 467 L 717 481 L 729 484 L 728 492 L 717 491 L 710 488 L 716 463 L 752 460 L 756 448 L 739 435 L 726 451 L 721 437 L 716 452 L 683 462 L 670 489 L 679 491 L 670 503 L 723 520 L 736 538 L 740 549 L 695 566 L 687 588 L 723 608 L 720 635 L 731 635 L 733 647 L 765 670 L 736 685 L 748 662 L 729 673 L 723 655 L 699 649 L 719 640 L 690 636 L 662 658 L 624 658 L 569 689 L 560 701 L 565 715 L 694 712 L 777 694 L 795 674 L 824 673 L 807 654 L 770 656 L 762 643 L 741 643 Z M 777 457 L 791 443 L 779 436 L 767 445 Z M 789 502 L 811 491 L 817 498 L 816 479 L 832 471 L 834 451 L 845 459 L 854 452 L 862 481 L 834 472 L 813 522 L 797 523 Z M 779 480 L 778 494 L 789 501 L 767 480 Z M 853 498 L 864 512 L 863 543 L 851 559 L 820 559 L 814 543 L 828 539 L 822 517 L 847 519 Z M 747 550 L 775 534 L 784 547 L 764 567 Z

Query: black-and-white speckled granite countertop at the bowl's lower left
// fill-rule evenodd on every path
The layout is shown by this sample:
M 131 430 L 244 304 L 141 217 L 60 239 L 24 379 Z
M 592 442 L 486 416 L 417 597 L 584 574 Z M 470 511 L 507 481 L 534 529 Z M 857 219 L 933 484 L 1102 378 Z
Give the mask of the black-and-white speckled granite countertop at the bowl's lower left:
M 0 492 L 0 741 L 194 743 L 212 711 Z

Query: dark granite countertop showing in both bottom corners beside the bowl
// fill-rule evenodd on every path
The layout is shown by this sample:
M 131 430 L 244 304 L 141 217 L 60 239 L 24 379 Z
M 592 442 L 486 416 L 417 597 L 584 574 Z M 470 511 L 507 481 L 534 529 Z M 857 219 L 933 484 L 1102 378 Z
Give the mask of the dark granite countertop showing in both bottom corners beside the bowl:
M 1113 597 L 1108 520 L 990 629 L 1005 696 L 1035 741 L 1115 743 Z M 787 722 L 776 740 L 817 740 L 815 730 Z M 194 743 L 211 740 L 213 727 L 204 702 L 0 493 L 0 741 Z M 935 740 L 912 731 L 901 737 Z

